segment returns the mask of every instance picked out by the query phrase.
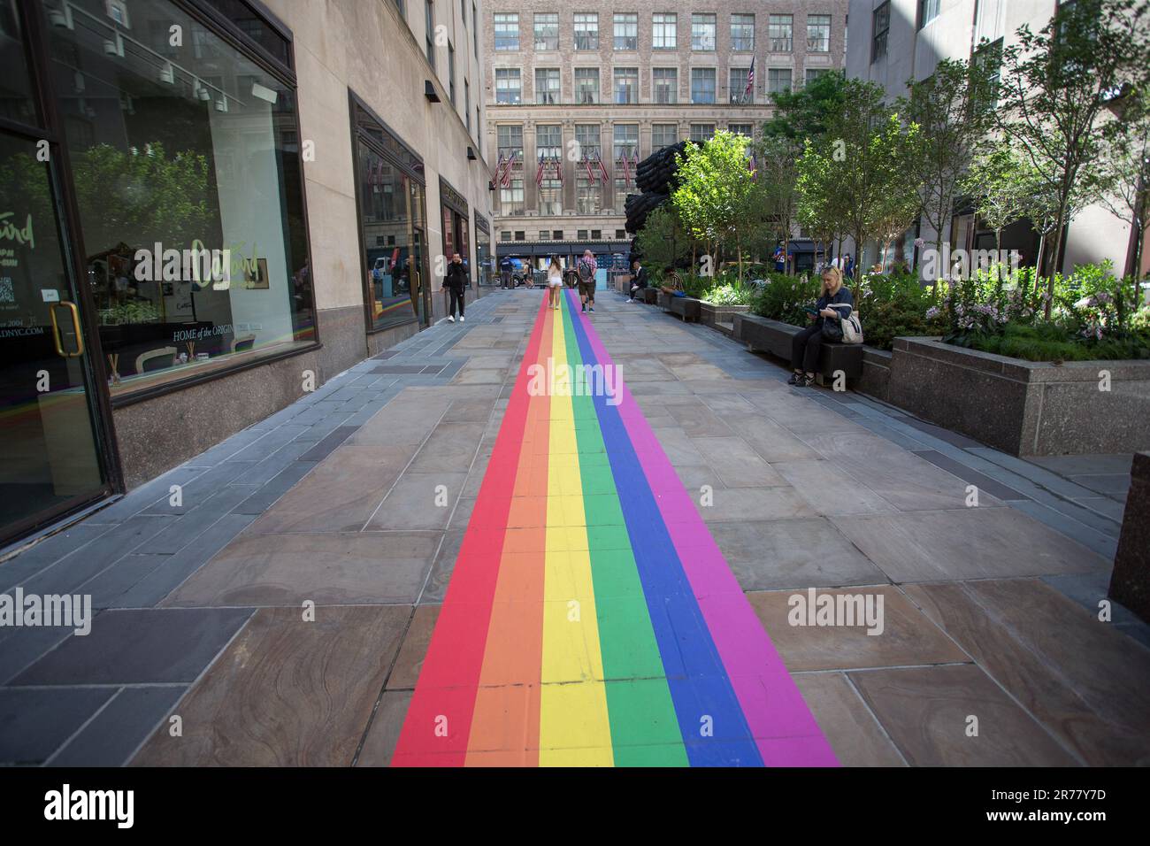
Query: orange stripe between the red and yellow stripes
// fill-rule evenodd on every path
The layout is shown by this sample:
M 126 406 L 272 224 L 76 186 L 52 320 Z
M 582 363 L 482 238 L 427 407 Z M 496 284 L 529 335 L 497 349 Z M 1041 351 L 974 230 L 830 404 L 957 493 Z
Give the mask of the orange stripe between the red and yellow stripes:
M 544 314 L 539 360 L 551 355 L 555 312 Z M 507 516 L 488 628 L 468 765 L 538 767 L 543 665 L 543 570 L 551 397 L 532 396 Z

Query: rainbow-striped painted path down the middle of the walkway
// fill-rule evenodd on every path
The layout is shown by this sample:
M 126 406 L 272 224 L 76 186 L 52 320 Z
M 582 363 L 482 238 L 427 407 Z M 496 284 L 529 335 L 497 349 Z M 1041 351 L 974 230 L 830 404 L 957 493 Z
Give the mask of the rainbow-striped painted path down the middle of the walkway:
M 613 366 L 577 306 L 539 308 L 392 765 L 835 765 L 626 387 L 529 390 Z

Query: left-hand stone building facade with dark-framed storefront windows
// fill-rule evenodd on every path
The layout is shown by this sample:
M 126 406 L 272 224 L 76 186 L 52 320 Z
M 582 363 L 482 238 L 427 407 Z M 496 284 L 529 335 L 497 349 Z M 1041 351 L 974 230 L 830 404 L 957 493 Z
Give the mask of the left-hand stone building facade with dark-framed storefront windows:
M 0 3 L 0 550 L 443 318 L 445 256 L 481 281 L 484 6 Z

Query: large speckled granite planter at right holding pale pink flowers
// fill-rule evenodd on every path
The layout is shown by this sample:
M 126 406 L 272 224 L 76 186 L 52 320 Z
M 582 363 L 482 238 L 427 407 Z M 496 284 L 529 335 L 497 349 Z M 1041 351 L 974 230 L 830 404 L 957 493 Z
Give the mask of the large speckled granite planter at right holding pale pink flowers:
M 1150 449 L 1150 361 L 1056 365 L 899 337 L 887 394 L 892 405 L 1015 456 Z

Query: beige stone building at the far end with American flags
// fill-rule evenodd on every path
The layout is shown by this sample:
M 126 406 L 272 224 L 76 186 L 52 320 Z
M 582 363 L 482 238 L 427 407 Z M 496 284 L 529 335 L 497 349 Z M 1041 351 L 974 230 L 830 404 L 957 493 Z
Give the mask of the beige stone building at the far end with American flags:
M 846 0 L 489 0 L 485 9 L 500 253 L 515 242 L 629 238 L 636 161 L 716 129 L 753 135 L 772 91 L 844 64 Z

